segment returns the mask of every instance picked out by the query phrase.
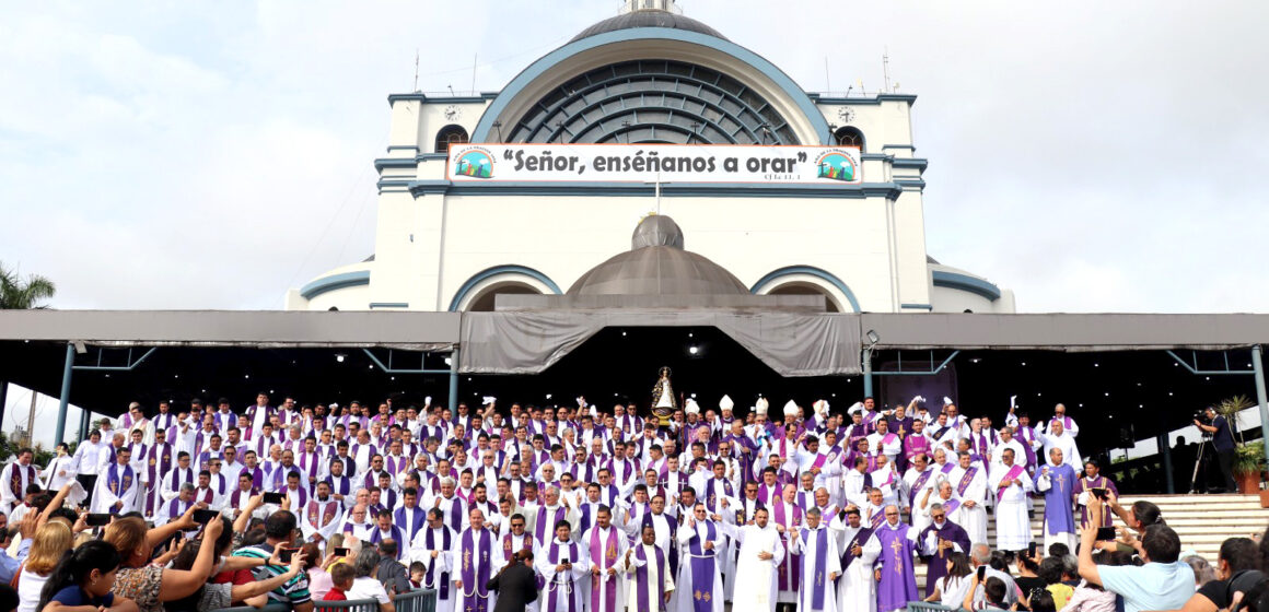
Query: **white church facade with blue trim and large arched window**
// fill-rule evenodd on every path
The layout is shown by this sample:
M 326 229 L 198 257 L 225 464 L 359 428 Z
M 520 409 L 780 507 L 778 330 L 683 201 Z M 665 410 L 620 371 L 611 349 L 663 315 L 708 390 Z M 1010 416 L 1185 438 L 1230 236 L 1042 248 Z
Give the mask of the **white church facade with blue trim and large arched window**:
M 497 92 L 388 96 L 374 255 L 291 289 L 286 308 L 470 312 L 499 294 L 563 295 L 659 212 L 751 294 L 1011 313 L 1011 291 L 926 253 L 915 100 L 807 92 L 673 0 L 628 0 Z M 822 161 L 816 174 L 829 158 L 845 176 Z

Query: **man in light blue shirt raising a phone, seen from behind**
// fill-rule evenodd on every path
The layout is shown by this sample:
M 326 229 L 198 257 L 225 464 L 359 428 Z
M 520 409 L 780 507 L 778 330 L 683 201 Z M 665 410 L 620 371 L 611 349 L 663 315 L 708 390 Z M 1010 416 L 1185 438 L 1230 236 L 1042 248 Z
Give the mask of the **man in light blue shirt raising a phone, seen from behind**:
M 1080 535 L 1080 577 L 1123 597 L 1124 612 L 1180 608 L 1194 594 L 1194 571 L 1178 560 L 1181 541 L 1171 527 L 1146 527 L 1141 537 L 1145 565 L 1140 568 L 1095 564 L 1096 535 L 1096 527 L 1086 527 Z

